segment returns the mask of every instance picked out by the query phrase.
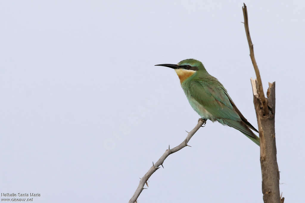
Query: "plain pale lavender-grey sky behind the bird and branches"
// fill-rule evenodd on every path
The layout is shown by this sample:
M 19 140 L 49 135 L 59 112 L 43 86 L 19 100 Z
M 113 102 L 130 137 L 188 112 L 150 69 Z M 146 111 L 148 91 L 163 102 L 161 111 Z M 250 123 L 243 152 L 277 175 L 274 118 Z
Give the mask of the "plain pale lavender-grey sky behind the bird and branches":
M 304 201 L 304 1 L 246 1 L 285 202 Z M 173 69 L 195 58 L 257 127 L 241 1 L 1 1 L 1 193 L 127 202 L 199 116 Z M 138 202 L 263 202 L 259 147 L 208 121 Z

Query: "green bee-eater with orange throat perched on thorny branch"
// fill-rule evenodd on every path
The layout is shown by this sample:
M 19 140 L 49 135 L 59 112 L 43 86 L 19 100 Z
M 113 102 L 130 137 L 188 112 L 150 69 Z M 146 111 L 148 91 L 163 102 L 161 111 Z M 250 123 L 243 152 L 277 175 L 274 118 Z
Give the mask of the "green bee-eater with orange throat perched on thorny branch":
M 202 119 L 218 121 L 233 127 L 260 145 L 259 137 L 252 130 L 258 131 L 242 116 L 227 90 L 217 78 L 206 71 L 202 62 L 196 59 L 185 59 L 177 65 L 158 64 L 156 66 L 175 69 L 188 102 Z

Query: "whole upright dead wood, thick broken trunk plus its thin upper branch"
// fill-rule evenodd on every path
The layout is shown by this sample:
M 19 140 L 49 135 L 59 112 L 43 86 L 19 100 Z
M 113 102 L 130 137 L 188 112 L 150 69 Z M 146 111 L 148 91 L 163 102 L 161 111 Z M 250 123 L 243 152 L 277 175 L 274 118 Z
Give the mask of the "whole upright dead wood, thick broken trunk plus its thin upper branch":
M 255 107 L 258 131 L 260 134 L 260 166 L 262 170 L 262 192 L 264 203 L 283 203 L 284 198 L 280 196 L 278 162 L 276 160 L 275 145 L 275 82 L 269 83 L 267 98 L 265 98 L 260 71 L 258 69 L 253 44 L 250 37 L 248 12 L 244 4 L 244 25 L 250 49 L 250 58 L 255 70 L 257 79 L 251 78 L 253 89 L 253 103 Z

